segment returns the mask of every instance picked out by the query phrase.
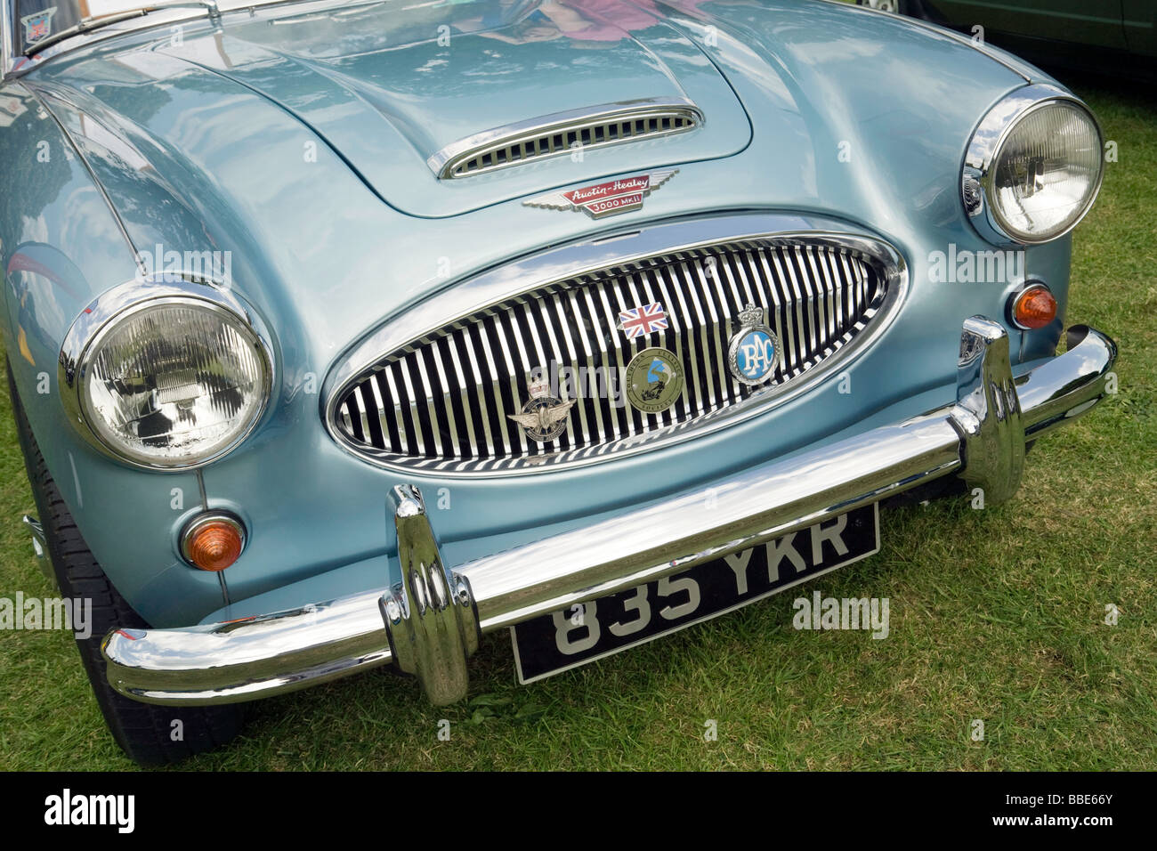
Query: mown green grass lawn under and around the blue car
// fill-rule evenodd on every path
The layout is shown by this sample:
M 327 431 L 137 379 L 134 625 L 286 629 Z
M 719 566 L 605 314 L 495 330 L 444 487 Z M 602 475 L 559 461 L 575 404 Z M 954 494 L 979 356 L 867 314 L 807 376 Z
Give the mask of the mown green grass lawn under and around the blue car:
M 797 632 L 789 592 L 519 687 L 509 639 L 492 634 L 469 705 L 433 709 L 412 681 L 374 672 L 252 705 L 242 739 L 185 768 L 1151 769 L 1157 103 L 1075 85 L 1120 161 L 1076 234 L 1069 320 L 1118 340 L 1120 394 L 1038 443 L 1010 504 L 882 512 L 880 555 L 804 586 L 889 597 L 886 640 Z M 43 596 L 7 395 L 0 408 L 0 596 Z M 0 640 L 0 765 L 133 768 L 62 632 Z

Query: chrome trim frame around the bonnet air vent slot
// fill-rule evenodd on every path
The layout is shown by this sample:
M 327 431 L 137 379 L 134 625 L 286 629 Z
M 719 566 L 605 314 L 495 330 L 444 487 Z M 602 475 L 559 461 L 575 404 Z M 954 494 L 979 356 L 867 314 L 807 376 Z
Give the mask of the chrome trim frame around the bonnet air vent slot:
M 675 133 L 685 133 L 703 125 L 702 111 L 694 103 L 684 97 L 642 97 L 634 101 L 618 101 L 616 103 L 603 103 L 597 107 L 583 107 L 581 109 L 572 109 L 563 112 L 552 112 L 550 115 L 538 116 L 537 118 L 530 118 L 524 122 L 516 122 L 514 124 L 502 125 L 501 127 L 484 130 L 480 133 L 474 133 L 473 135 L 467 135 L 464 139 L 450 142 L 444 148 L 433 154 L 426 161 L 426 164 L 429 166 L 430 170 L 435 175 L 437 175 L 439 179 L 447 181 L 473 177 L 474 175 L 486 174 L 501 168 L 522 166 L 524 163 L 537 162 L 538 160 L 545 160 L 552 156 L 572 154 L 573 151 L 565 145 L 563 147 L 555 149 L 553 140 L 551 140 L 548 142 L 550 148 L 545 152 L 537 149 L 533 153 L 526 154 L 525 147 L 522 147 L 523 155 L 517 159 L 508 160 L 507 162 L 501 163 L 495 162 L 489 166 L 471 169 L 467 173 L 458 174 L 458 169 L 463 164 L 471 160 L 480 159 L 486 154 L 495 154 L 504 148 L 525 146 L 528 142 L 541 137 L 554 137 L 569 132 L 581 132 L 583 130 L 590 130 L 600 125 L 613 123 L 621 124 L 622 122 L 650 120 L 653 118 L 662 119 L 665 117 L 683 118 L 691 122 L 692 126 L 659 130 L 654 133 L 646 132 L 640 135 L 618 135 L 614 139 L 604 139 L 603 141 L 592 141 L 590 144 L 584 142 L 582 149 L 591 151 L 594 148 L 607 147 L 610 145 L 626 145 L 633 141 L 658 139 Z

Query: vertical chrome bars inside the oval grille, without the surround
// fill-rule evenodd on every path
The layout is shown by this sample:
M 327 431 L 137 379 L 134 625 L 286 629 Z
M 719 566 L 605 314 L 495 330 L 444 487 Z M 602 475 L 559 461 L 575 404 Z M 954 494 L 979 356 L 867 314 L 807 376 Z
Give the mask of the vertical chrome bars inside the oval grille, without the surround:
M 746 239 L 658 255 L 509 298 L 381 358 L 336 401 L 339 439 L 377 462 L 444 472 L 521 470 L 638 449 L 759 405 L 852 343 L 889 294 L 889 274 L 832 241 Z M 666 329 L 627 339 L 620 311 L 661 303 Z M 730 339 L 747 305 L 766 309 L 783 350 L 760 386 L 734 377 Z M 616 377 L 650 346 L 675 352 L 684 389 L 659 415 L 642 413 Z M 545 443 L 509 418 L 545 373 L 553 395 L 577 397 Z

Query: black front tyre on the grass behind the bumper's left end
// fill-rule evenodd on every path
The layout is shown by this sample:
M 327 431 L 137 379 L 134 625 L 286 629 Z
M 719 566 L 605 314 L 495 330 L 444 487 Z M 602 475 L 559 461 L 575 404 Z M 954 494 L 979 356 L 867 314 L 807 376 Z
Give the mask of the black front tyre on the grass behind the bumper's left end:
M 7 359 L 5 366 L 24 467 L 32 485 L 37 515 L 47 538 L 47 555 L 60 585 L 60 594 L 68 599 L 93 601 L 91 634 L 84 639 L 78 637 L 76 648 L 112 738 L 140 765 L 174 763 L 224 744 L 241 729 L 241 705 L 154 706 L 130 700 L 109 685 L 104 658 L 101 655 L 101 640 L 110 630 L 141 629 L 148 624 L 117 593 L 84 544 L 84 538 L 73 522 L 40 456 Z

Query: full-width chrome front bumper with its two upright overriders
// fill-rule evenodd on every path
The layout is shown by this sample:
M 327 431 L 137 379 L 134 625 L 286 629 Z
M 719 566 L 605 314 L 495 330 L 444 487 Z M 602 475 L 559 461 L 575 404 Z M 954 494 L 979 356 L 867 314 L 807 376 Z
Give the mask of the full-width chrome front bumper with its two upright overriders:
M 242 621 L 110 632 L 109 682 L 146 703 L 234 703 L 393 662 L 434 703 L 452 703 L 466 695 L 467 659 L 484 632 L 685 571 L 942 476 L 963 476 L 983 489 L 986 502 L 1008 499 L 1020 483 L 1025 441 L 1104 398 L 1115 357 L 1112 339 L 1076 325 L 1064 354 L 1014 379 L 1003 327 L 974 316 L 960 338 L 957 398 L 938 410 L 458 566 L 443 563 L 418 487 L 400 485 L 390 508 L 399 581 L 383 577 L 379 590 Z

